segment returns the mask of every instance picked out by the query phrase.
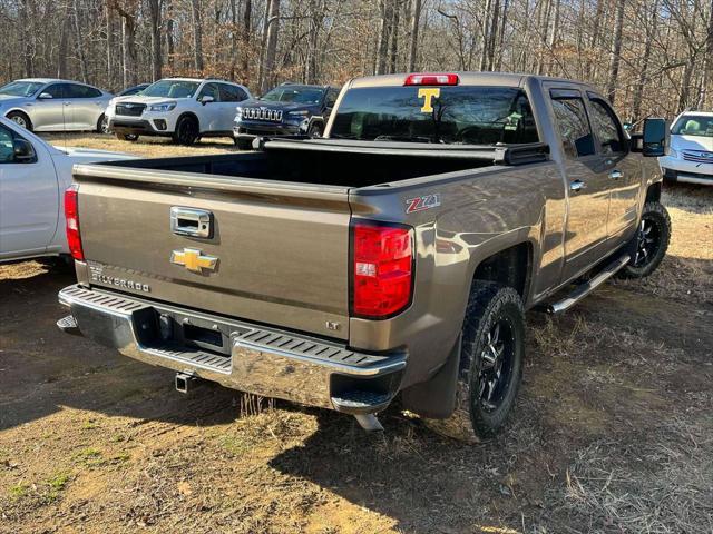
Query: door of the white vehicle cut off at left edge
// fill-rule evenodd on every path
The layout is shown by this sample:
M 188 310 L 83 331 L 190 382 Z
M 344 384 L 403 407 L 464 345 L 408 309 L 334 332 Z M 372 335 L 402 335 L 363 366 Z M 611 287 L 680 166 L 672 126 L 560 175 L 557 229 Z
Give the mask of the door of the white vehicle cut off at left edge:
M 0 125 L 0 259 L 43 253 L 55 236 L 59 214 L 50 155 L 32 144 L 35 158 L 20 162 L 14 158 L 16 139 L 25 138 Z

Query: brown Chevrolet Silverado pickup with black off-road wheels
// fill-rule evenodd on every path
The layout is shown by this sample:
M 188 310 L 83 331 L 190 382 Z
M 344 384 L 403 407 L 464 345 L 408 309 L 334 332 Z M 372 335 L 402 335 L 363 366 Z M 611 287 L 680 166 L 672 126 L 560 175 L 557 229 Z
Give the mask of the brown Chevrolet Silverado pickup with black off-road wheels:
M 670 221 L 642 156 L 667 131 L 629 137 L 568 80 L 393 75 L 346 83 L 324 139 L 76 166 L 58 325 L 175 369 L 179 390 L 214 380 L 365 428 L 401 394 L 489 436 L 525 310 L 661 263 Z

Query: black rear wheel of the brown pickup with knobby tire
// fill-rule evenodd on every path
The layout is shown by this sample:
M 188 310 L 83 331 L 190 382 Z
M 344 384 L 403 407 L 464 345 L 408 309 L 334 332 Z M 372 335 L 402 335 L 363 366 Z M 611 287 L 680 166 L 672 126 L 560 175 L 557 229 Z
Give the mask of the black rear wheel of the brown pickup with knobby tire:
M 462 327 L 456 409 L 446 419 L 426 419 L 427 426 L 459 441 L 494 437 L 515 404 L 524 358 L 520 296 L 510 287 L 475 280 Z

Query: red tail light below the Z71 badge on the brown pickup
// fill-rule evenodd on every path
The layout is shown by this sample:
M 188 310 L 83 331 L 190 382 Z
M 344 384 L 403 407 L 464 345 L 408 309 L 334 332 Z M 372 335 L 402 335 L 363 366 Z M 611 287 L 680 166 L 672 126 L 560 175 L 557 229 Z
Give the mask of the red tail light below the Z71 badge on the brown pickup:
M 383 319 L 411 303 L 413 229 L 358 222 L 352 226 L 352 314 Z

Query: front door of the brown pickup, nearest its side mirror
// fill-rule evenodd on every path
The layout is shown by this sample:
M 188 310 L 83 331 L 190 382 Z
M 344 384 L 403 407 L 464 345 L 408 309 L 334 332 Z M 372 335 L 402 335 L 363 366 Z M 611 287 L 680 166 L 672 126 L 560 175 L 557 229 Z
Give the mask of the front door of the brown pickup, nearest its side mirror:
M 626 237 L 626 230 L 636 224 L 642 165 L 639 158 L 629 154 L 624 129 L 606 100 L 593 92 L 587 92 L 587 97 L 597 152 L 609 178 L 607 236 L 612 241 L 609 247 L 616 247 Z

